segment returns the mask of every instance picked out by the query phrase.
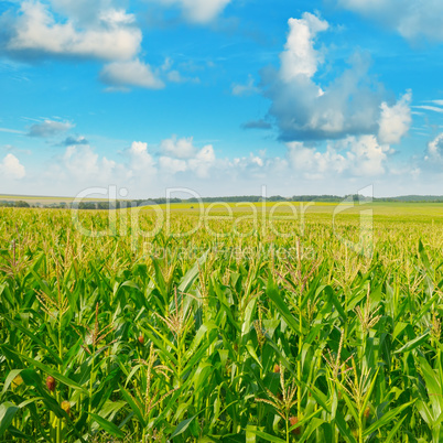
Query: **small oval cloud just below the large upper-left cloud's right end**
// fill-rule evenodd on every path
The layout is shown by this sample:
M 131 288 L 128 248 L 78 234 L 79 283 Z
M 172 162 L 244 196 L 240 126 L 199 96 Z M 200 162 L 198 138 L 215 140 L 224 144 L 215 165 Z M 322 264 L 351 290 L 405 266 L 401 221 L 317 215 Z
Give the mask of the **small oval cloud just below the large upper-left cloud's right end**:
M 151 66 L 139 58 L 128 62 L 114 62 L 106 65 L 100 73 L 101 82 L 110 86 L 137 86 L 148 89 L 161 89 L 163 82 L 155 76 Z

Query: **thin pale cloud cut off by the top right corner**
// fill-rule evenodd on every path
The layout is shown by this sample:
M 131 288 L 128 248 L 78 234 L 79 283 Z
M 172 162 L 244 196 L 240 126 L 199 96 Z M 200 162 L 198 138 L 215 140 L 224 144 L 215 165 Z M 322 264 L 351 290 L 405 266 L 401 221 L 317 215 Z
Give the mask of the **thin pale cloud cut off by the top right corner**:
M 441 0 L 339 0 L 338 4 L 376 20 L 410 41 L 418 37 L 443 41 Z

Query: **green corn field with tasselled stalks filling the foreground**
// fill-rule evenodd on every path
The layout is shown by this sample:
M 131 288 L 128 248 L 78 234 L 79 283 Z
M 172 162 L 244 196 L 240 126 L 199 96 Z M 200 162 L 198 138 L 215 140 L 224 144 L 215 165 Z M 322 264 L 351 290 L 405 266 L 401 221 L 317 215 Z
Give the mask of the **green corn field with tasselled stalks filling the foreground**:
M 0 208 L 1 442 L 443 441 L 443 207 L 134 218 Z

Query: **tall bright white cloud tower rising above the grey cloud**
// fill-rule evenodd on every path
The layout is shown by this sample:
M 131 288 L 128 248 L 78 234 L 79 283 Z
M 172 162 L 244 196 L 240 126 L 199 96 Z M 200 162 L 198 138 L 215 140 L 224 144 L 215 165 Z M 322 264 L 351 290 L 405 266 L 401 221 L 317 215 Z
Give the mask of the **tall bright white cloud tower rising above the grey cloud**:
M 288 23 L 290 32 L 285 51 L 280 54 L 280 75 L 283 82 L 291 82 L 299 75 L 311 78 L 323 58 L 314 50 L 314 39 L 318 32 L 327 30 L 328 23 L 309 12 L 302 19 L 290 19 Z

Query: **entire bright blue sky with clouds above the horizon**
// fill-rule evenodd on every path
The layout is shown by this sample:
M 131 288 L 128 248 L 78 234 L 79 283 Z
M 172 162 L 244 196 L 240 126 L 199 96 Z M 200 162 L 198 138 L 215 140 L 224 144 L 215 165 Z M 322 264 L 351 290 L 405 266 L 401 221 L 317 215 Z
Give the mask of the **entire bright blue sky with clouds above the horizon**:
M 0 3 L 0 193 L 443 194 L 440 0 Z

